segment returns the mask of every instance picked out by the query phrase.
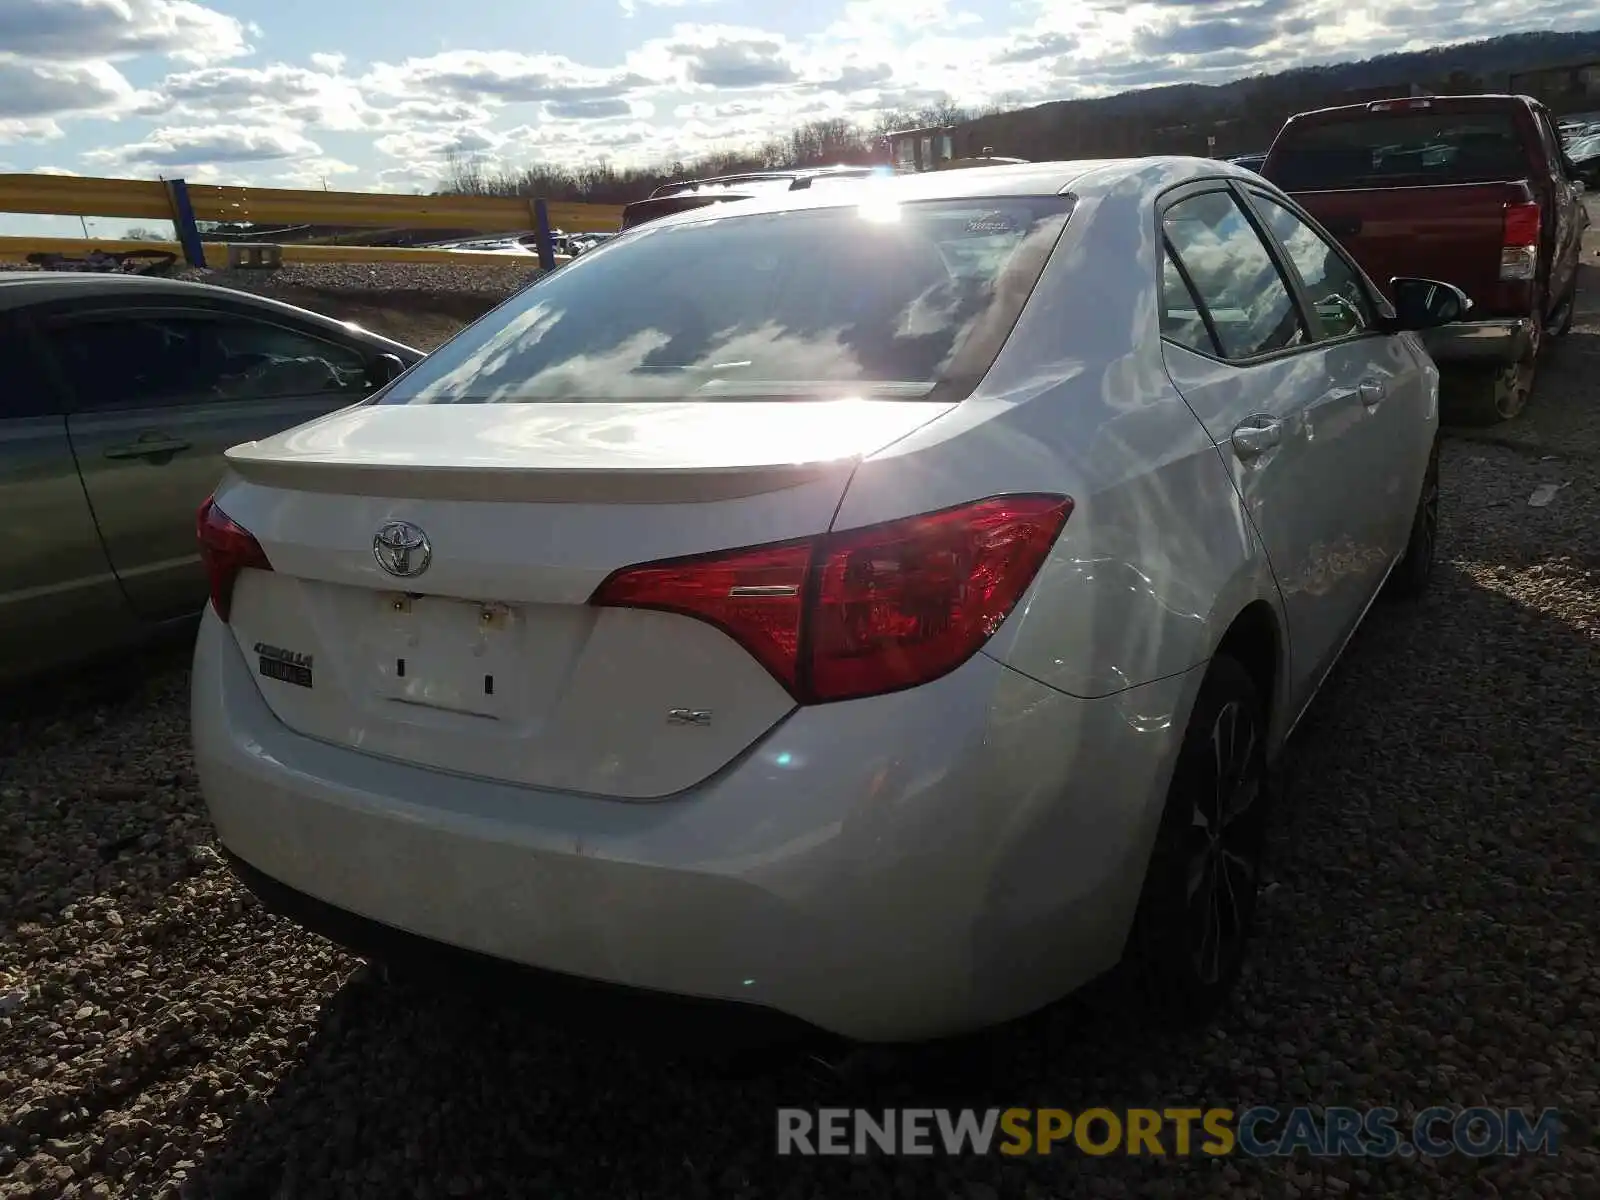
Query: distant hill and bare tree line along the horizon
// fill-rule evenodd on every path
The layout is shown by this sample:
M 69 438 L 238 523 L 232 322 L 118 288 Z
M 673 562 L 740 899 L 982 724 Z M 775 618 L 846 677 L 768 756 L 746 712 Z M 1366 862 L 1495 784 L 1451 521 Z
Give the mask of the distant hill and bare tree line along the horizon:
M 1595 70 L 1560 70 L 1594 64 Z M 1555 70 L 1552 70 L 1555 69 Z M 1590 82 L 1592 80 L 1592 82 Z M 880 114 L 867 125 L 843 118 L 806 122 L 786 138 L 739 150 L 656 166 L 597 163 L 565 168 L 539 163 L 491 168 L 482 158 L 451 157 L 438 192 L 528 195 L 621 205 L 674 179 L 781 166 L 886 162 L 883 134 L 930 125 L 955 126 L 958 157 L 1094 158 L 1144 154 L 1226 157 L 1266 150 L 1296 112 L 1413 93 L 1480 91 L 1538 94 L 1557 114 L 1600 109 L 1600 32 L 1510 34 L 1458 46 L 1381 54 L 1360 62 L 1298 67 L 1222 85 L 1178 83 L 1098 99 L 1072 99 L 984 110 L 954 104 Z

